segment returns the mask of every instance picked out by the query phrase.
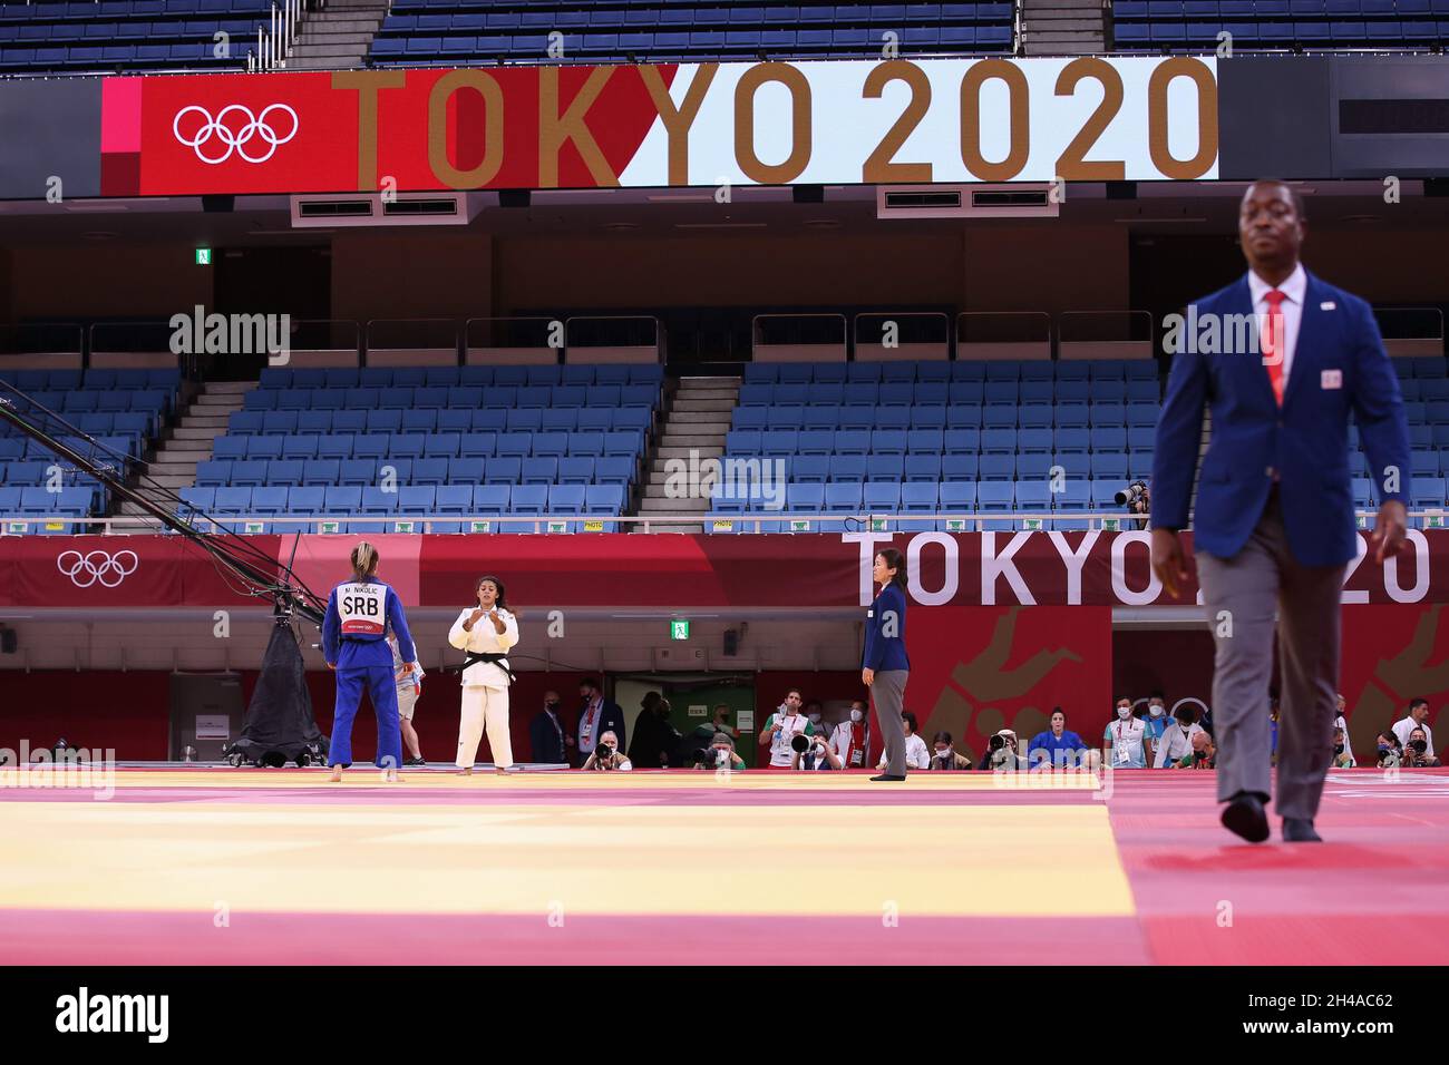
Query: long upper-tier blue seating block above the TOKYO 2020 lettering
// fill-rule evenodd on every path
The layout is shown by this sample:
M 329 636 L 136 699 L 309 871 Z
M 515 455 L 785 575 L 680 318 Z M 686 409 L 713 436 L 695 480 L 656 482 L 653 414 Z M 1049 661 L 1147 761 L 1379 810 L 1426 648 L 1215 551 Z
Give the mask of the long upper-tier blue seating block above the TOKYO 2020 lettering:
M 878 58 L 893 30 L 901 55 L 1011 52 L 1011 4 L 793 4 L 764 0 L 396 0 L 372 41 L 375 67 L 564 59 Z

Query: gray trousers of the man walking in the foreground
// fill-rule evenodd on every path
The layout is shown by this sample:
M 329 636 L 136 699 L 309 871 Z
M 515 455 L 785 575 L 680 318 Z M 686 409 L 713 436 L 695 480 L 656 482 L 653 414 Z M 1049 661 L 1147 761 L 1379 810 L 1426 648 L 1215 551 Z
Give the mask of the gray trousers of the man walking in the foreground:
M 1268 684 L 1278 629 L 1278 814 L 1311 819 L 1333 758 L 1342 565 L 1304 567 L 1288 551 L 1277 488 L 1232 558 L 1200 554 L 1197 575 L 1217 643 L 1213 730 L 1217 798 L 1269 795 Z M 1229 627 L 1230 625 L 1230 627 Z

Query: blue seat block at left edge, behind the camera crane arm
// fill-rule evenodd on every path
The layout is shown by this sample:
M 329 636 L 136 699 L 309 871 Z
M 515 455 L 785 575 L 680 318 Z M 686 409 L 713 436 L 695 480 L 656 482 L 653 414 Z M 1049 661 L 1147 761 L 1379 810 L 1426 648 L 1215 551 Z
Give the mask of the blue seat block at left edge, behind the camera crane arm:
M 110 452 L 141 458 L 149 440 L 175 410 L 181 374 L 175 369 L 22 369 L 0 380 L 26 393 Z M 22 413 L 29 413 L 22 410 Z M 119 467 L 117 455 L 59 433 L 87 458 Z M 62 468 L 62 490 L 52 493 L 49 469 Z M 10 516 L 87 517 L 103 514 L 106 490 L 87 474 L 70 469 L 54 452 L 0 423 L 0 519 Z M 80 522 L 58 520 L 28 526 L 32 533 L 84 532 Z

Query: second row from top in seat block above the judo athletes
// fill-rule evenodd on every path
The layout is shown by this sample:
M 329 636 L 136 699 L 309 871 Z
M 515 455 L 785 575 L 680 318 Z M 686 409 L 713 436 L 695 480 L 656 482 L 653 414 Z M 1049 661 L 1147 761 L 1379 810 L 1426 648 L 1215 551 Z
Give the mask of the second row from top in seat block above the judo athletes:
M 455 385 L 452 388 L 255 388 L 246 410 L 542 410 L 543 407 L 643 407 L 659 401 L 652 384 Z

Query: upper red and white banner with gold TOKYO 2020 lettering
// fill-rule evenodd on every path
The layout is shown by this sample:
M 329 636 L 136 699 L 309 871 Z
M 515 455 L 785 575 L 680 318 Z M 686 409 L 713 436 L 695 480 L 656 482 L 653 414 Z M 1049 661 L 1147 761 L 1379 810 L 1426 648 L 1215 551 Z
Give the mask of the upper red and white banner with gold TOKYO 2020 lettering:
M 101 194 L 1219 177 L 1213 58 L 114 77 Z

